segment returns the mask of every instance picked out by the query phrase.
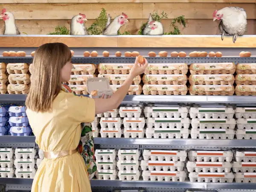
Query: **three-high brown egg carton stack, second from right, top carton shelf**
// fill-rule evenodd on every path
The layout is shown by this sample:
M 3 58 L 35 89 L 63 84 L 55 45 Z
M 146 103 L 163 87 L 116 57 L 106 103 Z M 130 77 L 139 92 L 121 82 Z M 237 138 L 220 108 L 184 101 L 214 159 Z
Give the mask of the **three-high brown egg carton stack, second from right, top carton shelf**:
M 227 63 L 190 64 L 190 95 L 233 95 L 236 65 Z

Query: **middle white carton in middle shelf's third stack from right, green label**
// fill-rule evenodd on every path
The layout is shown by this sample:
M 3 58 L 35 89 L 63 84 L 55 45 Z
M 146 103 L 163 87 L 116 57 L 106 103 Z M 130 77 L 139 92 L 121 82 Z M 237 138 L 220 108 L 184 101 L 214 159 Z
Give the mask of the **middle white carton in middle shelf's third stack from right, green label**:
M 189 118 L 154 118 L 146 119 L 148 128 L 189 128 Z

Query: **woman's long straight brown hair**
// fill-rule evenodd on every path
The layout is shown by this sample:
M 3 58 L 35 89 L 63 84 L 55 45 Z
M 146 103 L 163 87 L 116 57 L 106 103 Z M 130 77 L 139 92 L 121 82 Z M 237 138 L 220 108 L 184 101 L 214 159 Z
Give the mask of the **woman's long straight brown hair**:
M 35 52 L 26 106 L 35 112 L 52 111 L 52 102 L 61 91 L 61 68 L 71 61 L 71 52 L 62 43 L 43 44 Z

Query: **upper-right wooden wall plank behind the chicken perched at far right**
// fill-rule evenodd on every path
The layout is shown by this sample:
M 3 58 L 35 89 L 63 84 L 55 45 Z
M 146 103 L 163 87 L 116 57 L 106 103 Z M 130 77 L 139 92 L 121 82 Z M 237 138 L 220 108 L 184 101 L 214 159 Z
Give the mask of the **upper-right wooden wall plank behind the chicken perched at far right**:
M 166 12 L 168 18 L 185 15 L 186 19 L 212 19 L 212 13 L 217 9 L 230 6 L 229 3 L 143 3 L 143 19 L 149 13 L 158 10 Z M 256 19 L 256 4 L 234 3 L 231 6 L 244 8 L 247 19 Z

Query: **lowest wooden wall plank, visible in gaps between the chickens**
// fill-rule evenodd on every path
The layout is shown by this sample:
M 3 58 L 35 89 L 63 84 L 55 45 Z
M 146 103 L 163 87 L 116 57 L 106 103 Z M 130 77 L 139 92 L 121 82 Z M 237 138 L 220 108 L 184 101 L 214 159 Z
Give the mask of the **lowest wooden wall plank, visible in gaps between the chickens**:
M 88 20 L 86 26 L 90 26 L 94 20 Z M 129 23 L 122 26 L 120 32 L 129 31 L 132 35 L 137 35 L 140 26 L 147 20 L 131 19 Z M 169 32 L 172 28 L 169 28 L 172 20 L 163 20 L 163 26 L 165 32 Z M 180 32 L 183 35 L 216 35 L 218 34 L 218 22 L 213 22 L 211 19 L 188 19 L 186 20 L 187 26 L 183 28 L 179 26 Z M 256 20 L 248 20 L 248 29 L 245 35 L 256 34 Z M 4 21 L 0 20 L 0 34 L 3 34 Z M 50 32 L 54 32 L 56 26 L 66 26 L 70 29 L 70 20 L 17 20 L 16 25 L 20 32 L 25 32 L 28 35 L 46 35 Z

